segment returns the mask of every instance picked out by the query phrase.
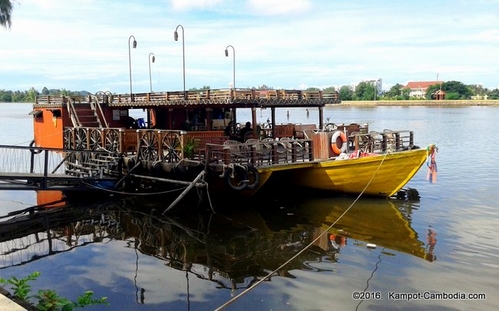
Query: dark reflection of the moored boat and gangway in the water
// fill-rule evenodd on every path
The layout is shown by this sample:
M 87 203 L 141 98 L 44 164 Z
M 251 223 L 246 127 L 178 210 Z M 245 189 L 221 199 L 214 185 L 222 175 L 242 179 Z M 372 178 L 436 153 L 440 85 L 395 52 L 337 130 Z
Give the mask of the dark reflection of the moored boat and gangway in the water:
M 293 269 L 309 269 L 311 262 L 334 264 L 342 248 L 368 243 L 433 260 L 427 246 L 432 250 L 436 240 L 428 245 L 419 240 L 411 228 L 410 201 L 359 200 L 338 220 L 353 201 L 267 199 L 214 206 L 216 213 L 179 207 L 164 216 L 160 205 L 136 198 L 84 206 L 45 203 L 0 219 L 0 268 L 118 240 L 174 269 L 235 290 L 248 288 L 307 246 L 278 274 L 291 276 Z

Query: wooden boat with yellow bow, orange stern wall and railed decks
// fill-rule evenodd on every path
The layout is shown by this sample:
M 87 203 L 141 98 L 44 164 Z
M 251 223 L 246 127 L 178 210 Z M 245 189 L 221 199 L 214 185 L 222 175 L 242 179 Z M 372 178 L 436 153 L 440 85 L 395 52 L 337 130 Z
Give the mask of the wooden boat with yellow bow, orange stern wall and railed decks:
M 67 174 L 114 176 L 113 191 L 206 187 L 254 194 L 269 180 L 388 197 L 427 158 L 412 131 L 370 131 L 367 124 L 325 124 L 338 93 L 299 90 L 203 90 L 116 95 L 38 96 L 36 147 L 60 148 Z M 277 124 L 277 109 L 316 109 L 314 124 Z M 146 119 L 133 119 L 142 109 Z M 239 140 L 237 111 L 251 109 L 252 130 Z M 257 124 L 257 109 L 271 118 Z M 105 190 L 105 189 L 103 189 Z

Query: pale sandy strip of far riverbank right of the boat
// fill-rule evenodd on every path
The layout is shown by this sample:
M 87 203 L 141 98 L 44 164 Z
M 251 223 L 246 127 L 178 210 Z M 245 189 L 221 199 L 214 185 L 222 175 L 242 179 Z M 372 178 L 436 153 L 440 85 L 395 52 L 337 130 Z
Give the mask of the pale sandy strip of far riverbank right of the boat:
M 499 106 L 499 100 L 368 100 L 342 101 L 342 106 Z

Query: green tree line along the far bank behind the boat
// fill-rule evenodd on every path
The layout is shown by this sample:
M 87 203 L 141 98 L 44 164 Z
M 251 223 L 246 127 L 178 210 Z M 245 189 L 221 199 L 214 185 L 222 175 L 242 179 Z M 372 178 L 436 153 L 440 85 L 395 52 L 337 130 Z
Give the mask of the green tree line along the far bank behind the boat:
M 191 88 L 189 91 L 202 91 L 210 89 L 209 86 L 203 86 L 199 89 Z M 266 85 L 253 87 L 252 89 L 269 90 L 273 89 Z M 320 90 L 316 87 L 310 87 L 307 91 Z M 489 90 L 481 85 L 465 85 L 459 81 L 441 82 L 431 85 L 426 90 L 425 99 L 435 99 L 435 93 L 438 90 L 445 92 L 445 99 L 448 100 L 468 100 L 472 98 L 480 99 L 499 99 L 499 89 Z M 345 101 L 368 101 L 368 100 L 410 100 L 421 99 L 420 97 L 411 97 L 410 89 L 405 88 L 402 84 L 395 84 L 388 91 L 376 92 L 375 85 L 372 82 L 360 82 L 355 87 L 344 85 L 339 89 L 333 86 L 323 89 L 323 91 L 338 91 L 341 100 Z M 44 87 L 41 92 L 35 88 L 30 88 L 27 91 L 9 91 L 0 90 L 0 102 L 35 102 L 36 96 L 52 95 L 52 96 L 84 96 L 89 94 L 87 91 L 70 91 L 66 89 L 48 89 Z

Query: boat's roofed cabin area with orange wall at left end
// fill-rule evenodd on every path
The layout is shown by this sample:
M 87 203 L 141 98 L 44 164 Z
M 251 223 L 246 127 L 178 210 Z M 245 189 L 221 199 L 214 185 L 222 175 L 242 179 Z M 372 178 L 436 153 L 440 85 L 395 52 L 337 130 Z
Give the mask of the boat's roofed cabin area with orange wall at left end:
M 111 93 L 88 96 L 39 96 L 31 114 L 34 117 L 35 142 L 38 147 L 94 149 L 106 147 L 109 135 L 120 136 L 120 152 L 137 151 L 137 133 L 144 130 L 178 131 L 187 136 L 227 137 L 245 142 L 249 138 L 304 138 L 305 128 L 323 126 L 323 108 L 338 103 L 338 93 L 297 90 L 204 90 L 134 94 L 133 97 Z M 319 110 L 318 124 L 296 127 L 277 125 L 275 109 L 307 107 Z M 244 124 L 237 122 L 238 109 L 252 110 L 251 132 L 239 133 Z M 268 124 L 257 124 L 256 109 L 269 108 Z M 131 110 L 142 109 L 145 118 L 134 119 Z M 137 131 L 139 130 L 139 131 Z M 118 133 L 116 133 L 116 131 Z M 83 133 L 85 132 L 85 133 Z M 111 134 L 110 134 L 111 133 Z M 107 136 L 106 136 L 107 135 Z M 104 145 L 102 144 L 104 143 Z

